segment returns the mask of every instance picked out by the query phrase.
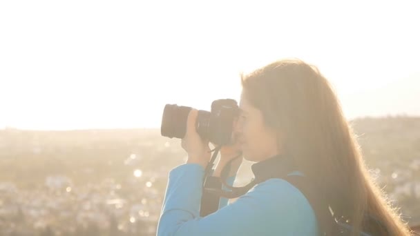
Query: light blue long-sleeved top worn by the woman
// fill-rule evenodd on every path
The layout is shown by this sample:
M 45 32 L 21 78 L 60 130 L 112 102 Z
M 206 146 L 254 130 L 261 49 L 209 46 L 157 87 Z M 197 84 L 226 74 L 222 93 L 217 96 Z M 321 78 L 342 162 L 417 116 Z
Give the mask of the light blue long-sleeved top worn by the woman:
M 157 235 L 318 235 L 314 210 L 283 179 L 263 181 L 231 204 L 222 198 L 215 213 L 200 217 L 203 180 L 199 164 L 171 170 Z

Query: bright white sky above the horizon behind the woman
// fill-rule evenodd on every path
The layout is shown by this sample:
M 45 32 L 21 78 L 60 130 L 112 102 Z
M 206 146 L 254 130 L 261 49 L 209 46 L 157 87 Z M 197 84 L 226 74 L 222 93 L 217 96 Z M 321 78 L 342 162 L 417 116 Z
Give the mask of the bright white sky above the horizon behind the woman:
M 387 1 L 388 2 L 388 1 Z M 160 127 L 312 63 L 347 118 L 420 115 L 419 1 L 0 1 L 0 128 Z

